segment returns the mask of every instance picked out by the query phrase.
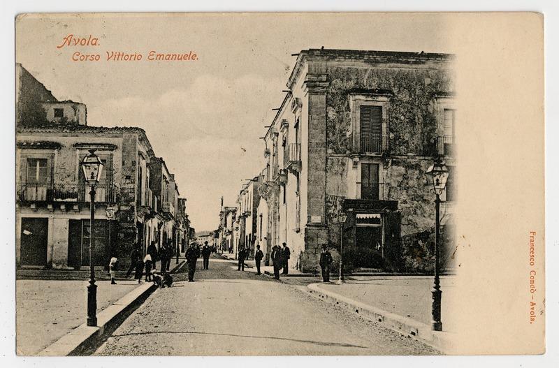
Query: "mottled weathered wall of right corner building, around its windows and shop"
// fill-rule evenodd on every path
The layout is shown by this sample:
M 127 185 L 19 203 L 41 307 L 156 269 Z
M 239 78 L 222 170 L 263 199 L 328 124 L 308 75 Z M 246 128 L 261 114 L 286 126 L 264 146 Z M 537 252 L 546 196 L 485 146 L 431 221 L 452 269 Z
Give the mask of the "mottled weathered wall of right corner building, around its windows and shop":
M 434 232 L 435 194 L 426 170 L 436 153 L 435 96 L 453 91 L 452 75 L 441 68 L 347 68 L 328 66 L 326 95 L 326 224 L 328 241 L 339 248 L 337 216 L 348 193 L 349 154 L 354 151 L 349 94 L 382 91 L 389 100 L 389 149 L 381 165 L 383 200 L 398 200 L 401 213 L 402 256 L 409 270 L 426 271 L 429 251 L 415 251 Z M 358 124 L 358 122 L 357 122 Z

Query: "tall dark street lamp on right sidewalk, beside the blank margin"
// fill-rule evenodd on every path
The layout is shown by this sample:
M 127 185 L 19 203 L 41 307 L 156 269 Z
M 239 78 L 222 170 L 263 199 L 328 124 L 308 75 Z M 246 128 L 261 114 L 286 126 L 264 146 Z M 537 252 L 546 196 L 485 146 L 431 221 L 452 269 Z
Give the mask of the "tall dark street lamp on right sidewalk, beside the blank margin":
M 435 159 L 435 163 L 431 165 L 427 173 L 433 178 L 433 189 L 435 189 L 435 284 L 433 285 L 433 306 L 431 307 L 431 314 L 433 316 L 433 322 L 431 323 L 431 328 L 434 331 L 442 331 L 441 322 L 441 295 L 442 291 L 439 280 L 439 207 L 441 203 L 440 195 L 444 191 L 444 187 L 447 185 L 447 179 L 449 178 L 449 170 L 447 165 L 444 165 L 444 161 L 440 157 Z

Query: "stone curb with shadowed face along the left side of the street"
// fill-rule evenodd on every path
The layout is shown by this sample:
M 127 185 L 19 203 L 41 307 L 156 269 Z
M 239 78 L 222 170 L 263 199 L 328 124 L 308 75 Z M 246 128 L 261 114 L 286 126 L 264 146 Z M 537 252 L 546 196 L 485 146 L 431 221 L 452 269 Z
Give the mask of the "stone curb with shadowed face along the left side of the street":
M 175 265 L 169 273 L 180 270 L 184 263 L 183 260 Z M 100 311 L 97 314 L 96 327 L 83 323 L 44 348 L 37 356 L 89 355 L 101 346 L 106 337 L 110 336 L 155 290 L 157 290 L 157 285 L 152 283 L 138 286 Z

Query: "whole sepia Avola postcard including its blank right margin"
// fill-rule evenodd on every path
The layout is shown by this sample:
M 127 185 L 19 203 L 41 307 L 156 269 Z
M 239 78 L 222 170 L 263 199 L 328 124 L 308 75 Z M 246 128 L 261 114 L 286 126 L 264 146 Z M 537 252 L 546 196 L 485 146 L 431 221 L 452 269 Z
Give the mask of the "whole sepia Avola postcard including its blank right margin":
M 515 22 L 525 38 L 507 33 Z M 467 36 L 493 27 L 538 49 L 542 22 L 17 15 L 17 355 L 543 353 L 543 58 L 525 50 L 541 64 L 524 84 L 532 119 L 509 120 L 529 124 L 538 147 L 534 175 L 517 180 L 498 164 L 519 139 L 495 135 L 506 115 L 475 118 L 500 99 L 468 84 L 498 79 L 472 68 L 472 50 L 514 47 Z M 509 68 L 499 90 L 514 83 Z M 500 226 L 491 248 L 484 232 Z M 521 286 L 490 256 L 506 244 L 522 248 L 509 259 L 525 267 Z M 488 263 L 500 273 L 487 282 L 509 284 L 480 293 Z M 487 314 L 475 309 L 483 293 Z M 493 305 L 498 293 L 514 307 Z M 507 334 L 500 324 L 531 343 L 479 346 Z

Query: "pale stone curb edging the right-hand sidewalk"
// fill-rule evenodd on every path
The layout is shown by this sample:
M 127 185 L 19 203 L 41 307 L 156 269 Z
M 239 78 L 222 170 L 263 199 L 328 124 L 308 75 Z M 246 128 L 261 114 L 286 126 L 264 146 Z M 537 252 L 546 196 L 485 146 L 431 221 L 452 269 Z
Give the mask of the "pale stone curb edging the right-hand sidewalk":
M 433 348 L 437 348 L 442 351 L 442 353 L 449 353 L 449 351 L 451 351 L 451 339 L 453 337 L 451 332 L 433 331 L 431 330 L 430 325 L 426 325 L 425 323 L 421 323 L 412 318 L 407 318 L 389 311 L 372 307 L 368 304 L 352 300 L 349 297 L 333 293 L 332 291 L 324 290 L 320 287 L 320 285 L 321 284 L 308 285 L 308 293 L 314 297 L 335 302 L 335 304 L 338 304 L 346 309 L 351 309 L 363 318 L 380 323 L 384 325 L 384 327 L 400 332 L 405 336 L 418 339 Z

